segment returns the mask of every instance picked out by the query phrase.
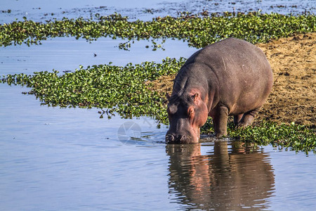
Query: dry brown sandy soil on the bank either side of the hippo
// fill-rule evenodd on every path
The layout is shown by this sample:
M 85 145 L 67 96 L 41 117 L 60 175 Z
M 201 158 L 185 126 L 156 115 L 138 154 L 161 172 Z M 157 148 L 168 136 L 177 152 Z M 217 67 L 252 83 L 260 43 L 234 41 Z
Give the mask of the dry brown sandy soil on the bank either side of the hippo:
M 257 46 L 270 61 L 274 85 L 256 122 L 295 122 L 315 127 L 316 33 L 299 34 Z M 152 82 L 154 90 L 170 94 L 174 77 L 163 76 Z

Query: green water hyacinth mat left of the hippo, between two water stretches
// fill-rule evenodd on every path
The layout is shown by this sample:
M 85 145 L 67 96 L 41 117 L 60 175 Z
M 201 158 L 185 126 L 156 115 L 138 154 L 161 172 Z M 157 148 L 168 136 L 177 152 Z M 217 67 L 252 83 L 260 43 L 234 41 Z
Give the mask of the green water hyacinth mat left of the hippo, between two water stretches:
M 32 87 L 42 104 L 60 107 L 108 108 L 124 117 L 152 115 L 166 122 L 166 99 L 151 91 L 145 82 L 180 70 L 185 58 L 166 58 L 162 63 L 144 62 L 124 67 L 93 65 L 59 75 L 53 72 L 34 72 L 34 75 L 3 76 L 0 82 Z

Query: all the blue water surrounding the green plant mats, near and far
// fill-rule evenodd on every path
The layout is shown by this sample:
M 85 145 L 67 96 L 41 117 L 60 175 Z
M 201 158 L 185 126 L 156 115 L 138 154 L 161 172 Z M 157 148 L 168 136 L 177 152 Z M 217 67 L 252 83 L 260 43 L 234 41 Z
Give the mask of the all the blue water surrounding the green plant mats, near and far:
M 1 1 L 0 10 L 13 11 L 0 13 L 0 20 L 19 18 L 25 11 L 41 19 L 46 17 L 43 13 L 58 13 L 58 8 L 68 11 L 66 16 L 76 16 L 86 14 L 87 8 L 103 6 L 98 1 L 88 5 L 31 1 L 24 7 L 22 2 Z M 135 5 L 111 2 L 108 11 L 131 14 L 140 14 L 141 9 L 134 7 L 162 7 L 158 0 L 136 1 Z M 204 1 L 164 5 L 174 5 L 176 10 L 199 2 Z M 221 1 L 207 1 L 216 2 Z M 256 2 L 251 4 L 270 1 Z M 312 1 L 280 2 L 275 4 L 308 8 Z M 244 1 L 235 5 L 244 5 Z M 79 8 L 80 13 L 70 13 Z M 152 15 L 142 14 L 143 18 Z M 8 46 L 0 50 L 0 74 L 62 72 L 110 61 L 114 65 L 159 62 L 166 56 L 187 58 L 196 51 L 172 39 L 164 44 L 166 51 L 146 49 L 148 41 L 122 51 L 116 47 L 119 42 L 102 38 L 89 44 L 62 37 L 39 46 Z M 151 117 L 125 120 L 115 115 L 108 119 L 106 115 L 100 118 L 97 108 L 40 106 L 34 96 L 22 95 L 22 91 L 29 88 L 0 84 L 1 210 L 312 210 L 316 205 L 314 154 L 272 146 L 244 148 L 242 143 L 211 138 L 195 145 L 166 145 L 167 127 L 157 127 Z

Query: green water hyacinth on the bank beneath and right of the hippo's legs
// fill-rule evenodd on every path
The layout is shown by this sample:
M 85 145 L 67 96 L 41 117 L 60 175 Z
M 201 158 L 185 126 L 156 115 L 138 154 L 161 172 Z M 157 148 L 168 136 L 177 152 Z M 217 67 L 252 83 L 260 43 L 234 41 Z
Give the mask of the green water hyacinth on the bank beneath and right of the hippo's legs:
M 211 117 L 201 128 L 202 134 L 213 133 L 213 122 Z M 256 143 L 258 146 L 278 146 L 285 150 L 309 151 L 316 153 L 316 131 L 313 127 L 294 124 L 277 124 L 275 122 L 261 121 L 246 128 L 236 128 L 233 122 L 228 123 L 228 134 L 230 139 L 246 143 Z

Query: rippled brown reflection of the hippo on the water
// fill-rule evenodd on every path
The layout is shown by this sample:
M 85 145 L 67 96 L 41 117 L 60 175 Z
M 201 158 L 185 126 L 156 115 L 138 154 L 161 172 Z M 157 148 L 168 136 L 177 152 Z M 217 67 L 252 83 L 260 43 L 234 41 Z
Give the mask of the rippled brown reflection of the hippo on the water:
M 270 156 L 242 145 L 215 141 L 206 155 L 201 153 L 201 143 L 166 145 L 173 200 L 190 209 L 267 209 L 275 192 Z

